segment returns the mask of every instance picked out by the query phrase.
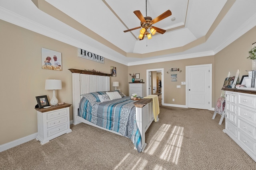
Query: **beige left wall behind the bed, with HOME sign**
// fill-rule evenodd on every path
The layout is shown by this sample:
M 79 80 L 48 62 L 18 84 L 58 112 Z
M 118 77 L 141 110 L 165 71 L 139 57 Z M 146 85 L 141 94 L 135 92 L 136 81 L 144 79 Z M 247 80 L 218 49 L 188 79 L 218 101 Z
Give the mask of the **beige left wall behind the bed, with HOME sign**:
M 117 76 L 110 77 L 110 90 L 115 89 L 112 81 L 119 81 L 118 88 L 128 94 L 128 66 L 106 58 L 104 64 L 83 59 L 78 57 L 76 47 L 2 20 L 0 28 L 0 145 L 37 132 L 36 96 L 52 98 L 52 90 L 44 90 L 46 79 L 62 80 L 62 90 L 57 90 L 56 96 L 59 102 L 72 104 L 72 73 L 69 68 L 95 69 L 110 74 L 110 66 L 116 66 Z M 42 47 L 62 53 L 62 71 L 41 68 Z M 70 119 L 73 119 L 72 107 Z

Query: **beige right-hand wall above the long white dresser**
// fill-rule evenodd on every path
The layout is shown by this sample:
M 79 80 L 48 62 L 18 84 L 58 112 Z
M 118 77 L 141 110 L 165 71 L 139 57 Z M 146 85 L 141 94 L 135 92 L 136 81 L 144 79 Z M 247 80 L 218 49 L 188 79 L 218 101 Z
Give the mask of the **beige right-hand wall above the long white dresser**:
M 242 35 L 236 41 L 228 45 L 222 51 L 215 55 L 215 99 L 221 94 L 221 88 L 224 80 L 231 72 L 231 76 L 236 75 L 239 69 L 239 80 L 243 75 L 248 75 L 246 70 L 252 70 L 252 60 L 246 59 L 248 51 L 252 49 L 252 44 L 256 42 L 256 27 Z

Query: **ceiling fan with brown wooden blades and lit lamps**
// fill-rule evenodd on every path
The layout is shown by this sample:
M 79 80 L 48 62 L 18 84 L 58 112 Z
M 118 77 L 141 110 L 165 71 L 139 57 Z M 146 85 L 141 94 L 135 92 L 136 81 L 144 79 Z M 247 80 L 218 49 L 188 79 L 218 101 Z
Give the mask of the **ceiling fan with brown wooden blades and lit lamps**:
M 152 35 L 154 35 L 156 32 L 161 33 L 161 34 L 165 33 L 166 30 L 158 28 L 158 27 L 154 27 L 152 25 L 154 23 L 157 23 L 158 21 L 161 21 L 164 18 L 167 18 L 168 16 L 172 15 L 172 12 L 170 10 L 167 10 L 166 12 L 164 12 L 163 14 L 161 14 L 160 16 L 158 16 L 154 20 L 152 20 L 152 18 L 150 16 L 143 17 L 140 10 L 136 10 L 133 13 L 139 18 L 140 26 L 125 30 L 124 32 L 126 33 L 128 31 L 132 31 L 134 29 L 139 29 L 142 27 L 142 29 L 140 29 L 140 35 L 139 35 L 140 40 L 144 39 L 145 35 L 148 37 L 148 39 L 151 39 Z M 146 15 L 147 15 L 147 0 L 146 0 Z

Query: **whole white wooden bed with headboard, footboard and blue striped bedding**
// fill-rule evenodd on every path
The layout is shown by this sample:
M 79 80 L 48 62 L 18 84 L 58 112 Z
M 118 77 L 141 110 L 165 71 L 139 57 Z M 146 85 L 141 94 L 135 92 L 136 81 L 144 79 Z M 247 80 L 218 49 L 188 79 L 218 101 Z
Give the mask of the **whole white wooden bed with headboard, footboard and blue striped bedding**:
M 145 133 L 148 127 L 152 121 L 159 120 L 153 113 L 152 98 L 134 101 L 119 91 L 110 91 L 110 74 L 69 70 L 72 72 L 73 124 L 86 123 L 128 137 L 134 148 L 142 152 L 147 145 Z M 112 93 L 119 93 L 121 98 L 113 98 Z M 102 96 L 98 95 L 105 94 L 112 100 L 100 102 Z

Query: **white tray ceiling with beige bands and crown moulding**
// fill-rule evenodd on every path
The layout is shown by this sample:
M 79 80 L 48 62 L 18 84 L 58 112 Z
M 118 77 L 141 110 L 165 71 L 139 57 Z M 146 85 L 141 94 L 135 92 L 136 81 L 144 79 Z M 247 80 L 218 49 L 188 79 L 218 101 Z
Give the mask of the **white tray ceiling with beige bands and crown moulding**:
M 34 2 L 34 3 L 33 3 Z M 36 6 L 36 5 L 37 6 Z M 256 25 L 256 0 L 0 0 L 0 19 L 125 65 L 214 55 Z M 140 20 L 166 30 L 139 40 Z M 172 18 L 175 18 L 172 21 Z

